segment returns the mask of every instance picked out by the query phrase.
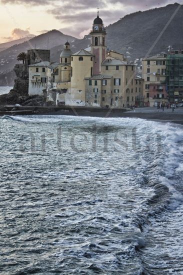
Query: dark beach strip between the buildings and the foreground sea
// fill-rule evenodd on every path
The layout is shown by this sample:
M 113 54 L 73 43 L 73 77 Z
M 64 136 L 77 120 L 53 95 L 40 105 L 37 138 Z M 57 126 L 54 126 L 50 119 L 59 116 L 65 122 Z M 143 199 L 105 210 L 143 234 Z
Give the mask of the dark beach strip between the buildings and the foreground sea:
M 173 122 L 183 124 L 183 107 L 174 109 L 155 107 L 135 108 L 133 110 L 119 109 L 99 109 L 84 107 L 24 107 L 23 110 L 1 112 L 0 115 L 78 115 L 92 117 L 138 117 L 148 120 L 158 120 L 163 122 Z

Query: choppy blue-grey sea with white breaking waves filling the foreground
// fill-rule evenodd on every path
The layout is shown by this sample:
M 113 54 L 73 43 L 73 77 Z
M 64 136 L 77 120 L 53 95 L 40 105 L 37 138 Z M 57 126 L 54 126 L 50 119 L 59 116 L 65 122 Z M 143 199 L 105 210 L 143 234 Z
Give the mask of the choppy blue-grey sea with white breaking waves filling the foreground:
M 183 128 L 0 117 L 0 274 L 183 274 Z

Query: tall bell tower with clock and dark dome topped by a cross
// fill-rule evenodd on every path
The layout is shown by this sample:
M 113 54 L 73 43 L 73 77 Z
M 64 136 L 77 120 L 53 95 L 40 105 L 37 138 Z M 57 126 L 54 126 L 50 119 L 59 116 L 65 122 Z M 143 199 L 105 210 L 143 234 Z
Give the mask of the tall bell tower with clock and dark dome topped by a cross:
M 91 35 L 91 53 L 94 55 L 93 74 L 97 75 L 101 73 L 101 63 L 106 57 L 105 35 L 106 31 L 103 26 L 102 19 L 97 17 L 93 21 Z

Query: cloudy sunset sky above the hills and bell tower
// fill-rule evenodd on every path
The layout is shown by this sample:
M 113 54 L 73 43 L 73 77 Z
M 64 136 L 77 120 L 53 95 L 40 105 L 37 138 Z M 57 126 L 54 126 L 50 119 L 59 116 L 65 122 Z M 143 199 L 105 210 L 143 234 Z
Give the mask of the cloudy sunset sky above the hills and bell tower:
M 182 3 L 183 0 L 176 0 Z M 0 43 L 51 29 L 82 38 L 97 15 L 105 26 L 125 14 L 174 3 L 172 0 L 0 0 Z

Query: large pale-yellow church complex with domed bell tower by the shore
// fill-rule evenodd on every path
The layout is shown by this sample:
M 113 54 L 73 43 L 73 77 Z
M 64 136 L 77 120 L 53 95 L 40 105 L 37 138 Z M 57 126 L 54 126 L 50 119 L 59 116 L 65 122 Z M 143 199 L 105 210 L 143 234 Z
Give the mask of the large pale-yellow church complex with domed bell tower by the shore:
M 142 96 L 143 79 L 135 76 L 134 65 L 123 54 L 106 51 L 106 30 L 98 12 L 90 36 L 90 47 L 75 53 L 66 41 L 59 62 L 40 60 L 29 65 L 29 94 L 43 94 L 46 90 L 47 101 L 54 105 L 135 105 Z

